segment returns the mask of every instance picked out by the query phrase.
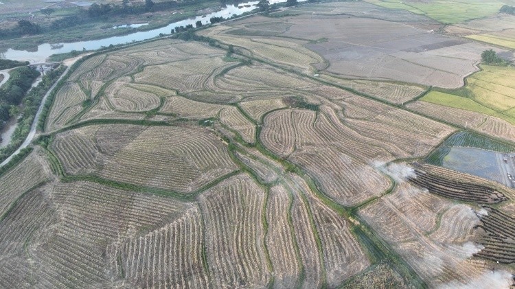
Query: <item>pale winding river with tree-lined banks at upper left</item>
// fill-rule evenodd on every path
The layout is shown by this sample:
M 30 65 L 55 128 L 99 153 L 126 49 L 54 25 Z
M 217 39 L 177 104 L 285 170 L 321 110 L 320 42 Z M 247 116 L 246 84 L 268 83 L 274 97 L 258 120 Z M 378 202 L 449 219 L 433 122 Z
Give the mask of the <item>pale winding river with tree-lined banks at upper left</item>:
M 298 0 L 306 1 L 306 0 Z M 270 0 L 271 4 L 274 3 L 282 3 L 286 2 L 284 0 Z M 177 21 L 174 23 L 170 23 L 166 25 L 165 27 L 157 28 L 155 30 L 148 30 L 148 31 L 142 31 L 142 32 L 135 32 L 132 34 L 127 34 L 124 36 L 113 36 L 109 38 L 104 39 L 98 39 L 98 40 L 92 40 L 92 41 L 78 41 L 74 43 L 58 43 L 62 45 L 62 47 L 54 48 L 52 49 L 52 46 L 50 43 L 44 43 L 41 45 L 38 45 L 37 51 L 26 51 L 26 50 L 14 50 L 9 48 L 8 51 L 5 51 L 4 55 L 7 59 L 12 60 L 19 60 L 19 61 L 29 61 L 31 63 L 38 63 L 38 62 L 45 62 L 45 60 L 51 56 L 52 54 L 60 54 L 60 53 L 66 53 L 70 52 L 72 50 L 81 51 L 82 49 L 87 50 L 93 50 L 93 49 L 99 49 L 101 47 L 106 47 L 109 45 L 117 45 L 117 44 L 124 44 L 124 43 L 131 43 L 133 41 L 144 41 L 150 38 L 153 38 L 155 36 L 159 36 L 159 34 L 170 34 L 170 31 L 172 28 L 175 28 L 177 26 L 186 26 L 186 25 L 195 25 L 196 21 L 202 21 L 203 24 L 209 23 L 209 19 L 211 17 L 224 17 L 229 18 L 233 14 L 241 15 L 244 12 L 250 12 L 255 9 L 255 4 L 257 4 L 258 1 L 250 1 L 245 3 L 239 3 L 238 5 L 227 5 L 225 8 L 222 8 L 222 10 L 217 12 L 212 12 L 209 14 L 205 14 L 205 16 L 196 16 L 194 18 L 190 19 L 184 19 L 182 21 Z M 244 7 L 245 5 L 249 7 Z M 238 8 L 238 6 L 242 8 Z M 59 46 L 60 46 L 59 45 Z

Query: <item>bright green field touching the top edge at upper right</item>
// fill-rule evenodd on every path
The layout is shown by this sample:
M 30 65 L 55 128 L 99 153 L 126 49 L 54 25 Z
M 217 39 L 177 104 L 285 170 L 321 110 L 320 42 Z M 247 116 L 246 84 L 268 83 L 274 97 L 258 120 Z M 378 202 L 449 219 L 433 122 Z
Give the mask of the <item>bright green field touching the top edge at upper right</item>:
M 365 0 L 369 3 L 391 9 L 404 9 L 416 14 L 425 14 L 436 21 L 454 24 L 471 19 L 490 16 L 499 12 L 505 4 L 503 1 L 458 0 L 458 1 L 398 1 Z

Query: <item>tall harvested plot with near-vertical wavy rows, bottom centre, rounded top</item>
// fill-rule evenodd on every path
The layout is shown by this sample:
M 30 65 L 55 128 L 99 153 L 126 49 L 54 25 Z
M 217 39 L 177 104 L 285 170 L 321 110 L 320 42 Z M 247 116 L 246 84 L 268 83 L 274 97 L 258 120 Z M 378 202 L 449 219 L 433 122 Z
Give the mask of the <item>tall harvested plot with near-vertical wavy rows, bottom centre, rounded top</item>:
M 261 222 L 265 194 L 240 174 L 209 189 L 199 203 L 214 286 L 266 286 L 271 278 Z

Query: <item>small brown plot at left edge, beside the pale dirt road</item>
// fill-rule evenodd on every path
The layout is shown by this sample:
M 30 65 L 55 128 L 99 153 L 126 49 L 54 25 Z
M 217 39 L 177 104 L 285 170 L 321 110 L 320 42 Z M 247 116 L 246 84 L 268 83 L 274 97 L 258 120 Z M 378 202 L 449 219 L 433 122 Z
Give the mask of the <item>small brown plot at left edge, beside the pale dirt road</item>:
M 0 176 L 0 220 L 25 192 L 49 180 L 47 164 L 36 152 Z

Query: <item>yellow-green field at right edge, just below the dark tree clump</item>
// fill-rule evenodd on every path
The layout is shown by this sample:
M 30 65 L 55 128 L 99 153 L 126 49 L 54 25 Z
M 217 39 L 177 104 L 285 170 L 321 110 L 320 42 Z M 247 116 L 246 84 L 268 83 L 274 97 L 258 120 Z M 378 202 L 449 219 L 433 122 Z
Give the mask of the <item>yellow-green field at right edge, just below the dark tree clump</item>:
M 515 69 L 482 65 L 461 89 L 431 91 L 422 101 L 493 115 L 515 124 Z

